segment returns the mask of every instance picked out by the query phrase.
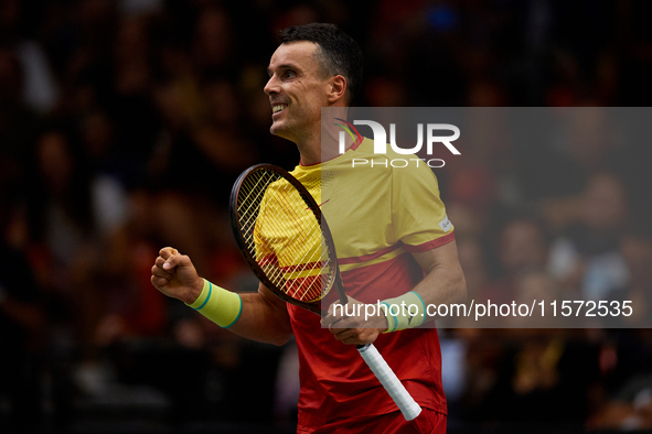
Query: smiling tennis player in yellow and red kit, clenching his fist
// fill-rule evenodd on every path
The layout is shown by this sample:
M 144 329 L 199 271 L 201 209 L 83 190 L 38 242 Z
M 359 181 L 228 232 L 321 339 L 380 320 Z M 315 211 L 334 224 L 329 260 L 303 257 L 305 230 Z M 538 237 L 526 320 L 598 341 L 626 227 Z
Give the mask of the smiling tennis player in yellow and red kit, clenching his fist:
M 321 108 L 350 106 L 362 77 L 357 44 L 332 24 L 288 28 L 280 39 L 265 86 L 272 111 L 270 132 L 299 149 L 300 164 L 292 174 L 322 204 L 350 303 L 405 302 L 424 313 L 428 304 L 464 300 L 453 227 L 427 166 L 403 172 L 388 166 L 366 184 L 354 183 L 350 171 L 340 169 L 352 158 L 372 155 L 368 139 L 322 163 Z M 321 171 L 327 167 L 341 174 L 333 178 L 338 185 L 329 188 L 354 192 L 356 206 L 321 197 Z M 161 249 L 151 281 L 165 295 L 239 336 L 276 345 L 295 336 L 301 381 L 299 433 L 446 432 L 437 329 L 416 328 L 427 316 L 381 311 L 365 321 L 331 306 L 320 324 L 317 315 L 285 303 L 263 284 L 257 293 L 236 294 L 207 282 L 188 256 L 171 247 Z M 415 420 L 404 419 L 354 347 L 368 343 L 421 406 Z

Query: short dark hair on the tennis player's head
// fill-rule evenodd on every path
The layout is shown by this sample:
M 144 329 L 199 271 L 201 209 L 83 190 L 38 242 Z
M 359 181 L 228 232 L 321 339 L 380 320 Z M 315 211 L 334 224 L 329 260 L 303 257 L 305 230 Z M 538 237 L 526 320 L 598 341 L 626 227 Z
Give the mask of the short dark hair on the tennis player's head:
M 321 48 L 320 63 L 329 75 L 346 78 L 346 102 L 351 105 L 362 82 L 362 51 L 360 45 L 335 24 L 310 23 L 292 25 L 279 32 L 281 44 L 308 41 Z

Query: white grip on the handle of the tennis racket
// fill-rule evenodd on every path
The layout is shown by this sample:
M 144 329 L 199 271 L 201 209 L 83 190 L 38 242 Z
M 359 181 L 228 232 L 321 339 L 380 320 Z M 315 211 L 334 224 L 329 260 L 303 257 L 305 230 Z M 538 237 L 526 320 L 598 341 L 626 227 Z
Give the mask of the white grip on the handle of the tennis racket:
M 368 365 L 372 372 L 374 372 L 378 381 L 381 381 L 381 384 L 383 384 L 387 393 L 389 393 L 389 397 L 392 397 L 405 420 L 411 421 L 418 416 L 421 412 L 421 408 L 410 397 L 376 347 L 373 344 L 368 344 L 357 347 L 357 350 L 364 361 L 366 361 L 366 365 Z

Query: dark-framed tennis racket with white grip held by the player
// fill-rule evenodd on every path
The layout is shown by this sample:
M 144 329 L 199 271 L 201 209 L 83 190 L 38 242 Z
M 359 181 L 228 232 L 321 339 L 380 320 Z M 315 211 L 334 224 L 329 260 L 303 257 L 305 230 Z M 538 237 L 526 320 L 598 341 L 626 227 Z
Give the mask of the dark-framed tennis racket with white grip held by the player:
M 260 282 L 293 305 L 322 315 L 320 301 L 332 287 L 346 294 L 335 246 L 321 209 L 306 187 L 271 164 L 247 169 L 231 194 L 231 224 L 245 260 Z M 421 412 L 373 344 L 360 355 L 407 421 Z

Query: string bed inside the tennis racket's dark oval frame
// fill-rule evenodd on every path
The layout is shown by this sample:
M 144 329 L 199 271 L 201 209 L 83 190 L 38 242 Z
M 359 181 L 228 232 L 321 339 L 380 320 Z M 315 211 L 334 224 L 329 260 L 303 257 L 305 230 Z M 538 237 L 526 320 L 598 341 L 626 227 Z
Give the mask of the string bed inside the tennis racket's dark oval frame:
M 310 207 L 293 185 L 280 180 L 276 172 L 257 171 L 243 182 L 238 193 L 241 234 L 278 289 L 296 300 L 318 301 L 331 286 L 330 250 Z M 279 246 L 282 251 L 276 252 Z M 289 265 L 282 267 L 279 257 Z M 317 275 L 316 269 L 321 269 Z

